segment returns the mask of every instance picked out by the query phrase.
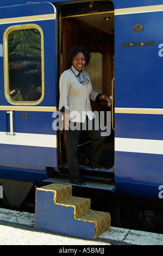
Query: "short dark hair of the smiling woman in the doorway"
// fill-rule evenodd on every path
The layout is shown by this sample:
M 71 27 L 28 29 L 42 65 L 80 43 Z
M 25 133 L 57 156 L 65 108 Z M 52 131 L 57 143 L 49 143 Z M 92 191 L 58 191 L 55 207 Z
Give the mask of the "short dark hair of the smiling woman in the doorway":
M 72 59 L 77 55 L 78 52 L 82 52 L 84 54 L 85 66 L 88 65 L 90 62 L 90 59 L 91 59 L 91 53 L 89 52 L 89 50 L 87 48 L 85 48 L 82 45 L 74 46 L 68 53 L 68 60 L 69 60 L 70 64 L 72 64 Z

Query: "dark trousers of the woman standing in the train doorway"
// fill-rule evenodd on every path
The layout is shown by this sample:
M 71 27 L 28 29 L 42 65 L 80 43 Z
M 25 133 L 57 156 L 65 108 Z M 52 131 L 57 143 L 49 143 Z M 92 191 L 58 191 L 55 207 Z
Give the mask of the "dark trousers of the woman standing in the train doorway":
M 90 122 L 91 122 L 91 125 L 89 125 Z M 86 118 L 86 125 L 84 126 L 84 130 L 86 130 L 87 135 L 89 135 L 89 137 L 92 139 L 92 148 L 89 155 L 87 155 L 87 159 L 95 165 L 98 164 L 99 158 L 101 156 L 102 147 L 105 141 L 105 136 L 101 136 L 103 131 L 101 130 L 99 123 L 97 125 L 97 122 L 98 121 L 96 119 L 93 119 L 92 121 L 90 121 L 88 118 Z M 81 124 L 78 123 L 78 129 L 74 129 L 74 130 L 70 129 L 68 131 L 65 131 L 66 155 L 67 155 L 67 162 L 68 162 L 71 182 L 81 181 L 77 154 L 78 154 L 78 142 L 80 138 L 80 131 L 82 129 L 82 125 L 83 125 L 82 123 Z M 97 129 L 97 126 L 98 126 L 98 129 Z M 91 130 L 90 130 L 90 127 L 92 127 Z

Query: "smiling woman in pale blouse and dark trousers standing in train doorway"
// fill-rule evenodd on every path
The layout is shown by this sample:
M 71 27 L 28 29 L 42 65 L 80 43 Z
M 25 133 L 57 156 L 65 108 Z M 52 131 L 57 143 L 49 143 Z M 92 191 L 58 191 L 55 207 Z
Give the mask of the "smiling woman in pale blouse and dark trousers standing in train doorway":
M 98 102 L 100 99 L 105 99 L 109 101 L 109 97 L 93 92 L 90 76 L 86 71 L 83 71 L 84 66 L 89 64 L 91 58 L 87 48 L 83 46 L 73 47 L 68 58 L 71 68 L 64 71 L 60 76 L 59 110 L 64 116 L 63 128 L 66 135 L 66 155 L 70 181 L 73 184 L 85 185 L 80 177 L 77 157 L 80 130 L 83 124 L 86 124 L 86 132 L 93 141 L 91 151 L 86 158 L 86 165 L 93 169 L 100 169 L 98 161 L 105 136 L 101 136 L 103 131 L 99 122 L 99 129 L 97 129 L 97 121 L 92 112 L 90 100 Z M 90 122 L 91 125 L 89 126 Z M 90 130 L 89 127 L 92 129 Z

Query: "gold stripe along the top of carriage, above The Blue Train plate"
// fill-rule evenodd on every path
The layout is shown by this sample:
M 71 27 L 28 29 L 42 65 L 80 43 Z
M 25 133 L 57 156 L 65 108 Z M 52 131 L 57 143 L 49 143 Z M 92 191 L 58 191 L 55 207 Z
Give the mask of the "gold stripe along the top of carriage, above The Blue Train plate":
M 115 9 L 115 15 L 151 13 L 154 11 L 162 11 L 162 10 L 163 10 L 163 4 L 150 5 L 150 6 L 143 6 L 143 7 Z

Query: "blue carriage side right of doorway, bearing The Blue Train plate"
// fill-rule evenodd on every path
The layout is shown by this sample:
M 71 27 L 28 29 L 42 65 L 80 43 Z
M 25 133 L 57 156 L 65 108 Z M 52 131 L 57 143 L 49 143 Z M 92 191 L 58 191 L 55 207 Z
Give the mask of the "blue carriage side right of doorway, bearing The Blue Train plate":
M 162 5 L 142 5 L 115 10 L 115 179 L 121 191 L 158 198 L 163 182 Z

